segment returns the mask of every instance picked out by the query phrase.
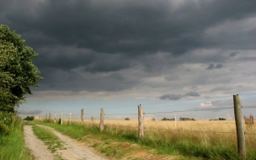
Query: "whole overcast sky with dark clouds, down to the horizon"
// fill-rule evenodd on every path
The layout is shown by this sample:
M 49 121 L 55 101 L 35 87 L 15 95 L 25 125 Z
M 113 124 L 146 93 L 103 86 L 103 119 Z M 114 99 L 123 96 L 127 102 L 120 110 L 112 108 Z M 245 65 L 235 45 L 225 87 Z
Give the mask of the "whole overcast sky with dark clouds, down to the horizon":
M 1 24 L 39 53 L 44 77 L 20 111 L 211 109 L 232 107 L 237 93 L 253 106 L 255 7 L 254 0 L 1 0 Z

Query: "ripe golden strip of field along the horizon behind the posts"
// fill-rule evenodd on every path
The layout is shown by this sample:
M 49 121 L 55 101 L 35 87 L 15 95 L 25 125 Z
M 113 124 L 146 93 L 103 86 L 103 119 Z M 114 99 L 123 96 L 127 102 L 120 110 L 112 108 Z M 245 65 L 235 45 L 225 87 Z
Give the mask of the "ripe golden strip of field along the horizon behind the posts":
M 68 121 L 67 119 L 63 121 Z M 80 119 L 73 119 L 72 122 L 81 123 Z M 98 125 L 99 120 L 83 120 L 84 124 Z M 256 123 L 256 122 L 255 122 Z M 138 127 L 138 120 L 104 120 L 106 126 L 116 127 Z M 236 134 L 236 124 L 234 120 L 173 120 L 170 121 L 152 121 L 144 120 L 145 130 L 171 130 L 171 131 L 201 131 L 215 132 L 219 134 Z M 256 125 L 248 127 L 244 124 L 246 134 L 256 134 Z

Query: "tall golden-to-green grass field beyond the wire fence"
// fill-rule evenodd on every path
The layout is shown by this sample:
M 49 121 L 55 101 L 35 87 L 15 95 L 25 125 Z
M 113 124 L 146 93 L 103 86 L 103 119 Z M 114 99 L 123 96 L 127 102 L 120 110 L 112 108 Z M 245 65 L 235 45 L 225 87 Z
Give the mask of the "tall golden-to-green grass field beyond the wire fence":
M 67 120 L 64 120 L 67 123 Z M 72 120 L 73 125 L 99 126 L 99 120 Z M 157 148 L 158 153 L 209 159 L 239 159 L 234 120 L 144 120 L 145 137 L 137 138 L 137 120 L 104 120 L 106 135 L 137 141 Z M 245 126 L 248 159 L 256 157 L 256 127 Z

